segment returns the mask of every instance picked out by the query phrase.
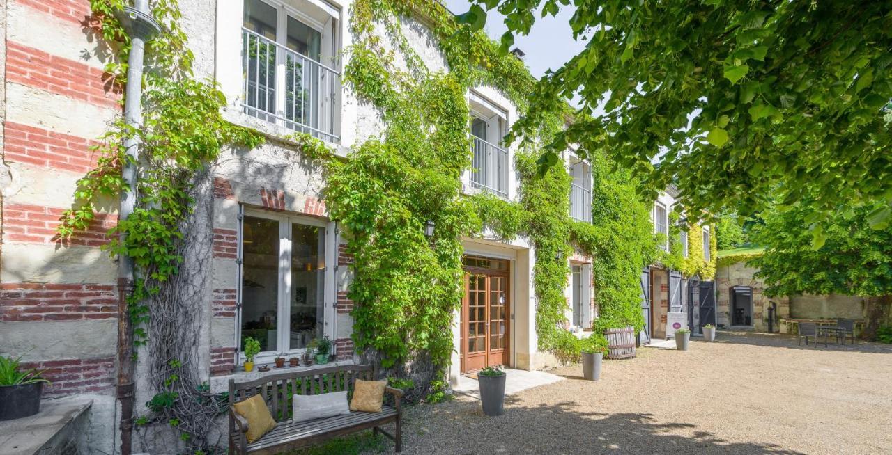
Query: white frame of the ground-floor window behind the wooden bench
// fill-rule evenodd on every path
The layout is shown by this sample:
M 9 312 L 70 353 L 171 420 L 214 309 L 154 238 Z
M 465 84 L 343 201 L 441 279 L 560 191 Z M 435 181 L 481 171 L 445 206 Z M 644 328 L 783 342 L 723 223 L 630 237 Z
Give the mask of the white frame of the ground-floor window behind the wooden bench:
M 322 334 L 332 340 L 332 353 L 335 353 L 335 337 L 337 334 L 335 321 L 335 264 L 337 261 L 337 245 L 335 235 L 335 222 L 320 220 L 311 216 L 295 215 L 288 213 L 274 213 L 267 210 L 254 208 L 242 209 L 242 221 L 244 216 L 254 218 L 264 218 L 275 220 L 279 223 L 279 258 L 278 258 L 278 289 L 277 289 L 277 313 L 276 313 L 276 333 L 277 333 L 277 351 L 261 351 L 254 358 L 254 363 L 272 363 L 279 355 L 297 356 L 306 351 L 305 348 L 291 349 L 291 334 L 289 324 L 291 321 L 291 252 L 292 252 L 292 223 L 315 226 L 326 230 L 325 240 L 325 272 L 323 283 L 323 331 Z M 235 344 L 238 346 L 238 363 L 243 364 L 246 360 L 244 357 L 244 346 L 241 345 L 242 340 L 242 281 L 243 274 L 241 272 L 242 248 L 244 223 L 238 224 L 238 313 L 235 318 Z M 283 347 L 289 345 L 289 349 Z

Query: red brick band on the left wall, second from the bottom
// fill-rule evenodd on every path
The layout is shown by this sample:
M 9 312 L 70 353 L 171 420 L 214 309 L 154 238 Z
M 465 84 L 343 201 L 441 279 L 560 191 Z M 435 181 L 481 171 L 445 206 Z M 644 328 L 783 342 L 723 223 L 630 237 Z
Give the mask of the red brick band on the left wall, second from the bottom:
M 118 296 L 103 284 L 0 283 L 0 309 L 0 321 L 112 319 Z

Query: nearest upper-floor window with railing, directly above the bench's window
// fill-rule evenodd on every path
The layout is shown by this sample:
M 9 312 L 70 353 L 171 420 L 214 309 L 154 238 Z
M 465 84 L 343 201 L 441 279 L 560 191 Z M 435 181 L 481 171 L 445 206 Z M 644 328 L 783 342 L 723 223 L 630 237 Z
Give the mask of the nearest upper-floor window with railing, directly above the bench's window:
M 337 142 L 337 12 L 326 8 L 315 2 L 296 8 L 278 0 L 244 0 L 242 108 L 253 117 Z

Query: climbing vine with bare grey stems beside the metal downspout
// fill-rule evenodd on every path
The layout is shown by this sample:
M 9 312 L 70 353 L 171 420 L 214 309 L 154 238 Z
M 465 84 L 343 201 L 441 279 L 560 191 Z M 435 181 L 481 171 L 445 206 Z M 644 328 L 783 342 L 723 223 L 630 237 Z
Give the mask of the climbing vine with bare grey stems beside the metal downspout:
M 105 247 L 111 256 L 132 257 L 136 265 L 128 311 L 139 348 L 135 352 L 149 366 L 155 393 L 145 403 L 150 412 L 136 423 L 167 423 L 178 432 L 185 451 L 205 453 L 217 445 L 209 438 L 225 403 L 202 383 L 204 373 L 197 362 L 197 328 L 203 312 L 201 305 L 195 305 L 201 297 L 195 289 L 202 287 L 194 286 L 194 280 L 200 280 L 195 278 L 201 274 L 196 269 L 202 267 L 184 266 L 187 249 L 202 248 L 188 240 L 196 231 L 190 229 L 195 222 L 194 195 L 201 191 L 196 185 L 207 183 L 208 167 L 221 148 L 235 144 L 253 148 L 261 137 L 225 121 L 223 94 L 213 82 L 194 77 L 194 56 L 178 25 L 177 0 L 153 2 L 161 34 L 146 43 L 144 80 L 126 80 L 130 42 L 114 14 L 128 3 L 91 0 L 92 33 L 114 50 L 106 70 L 116 84 L 143 84 L 143 125 L 133 128 L 122 118 L 113 122 L 93 150 L 97 166 L 78 181 L 76 206 L 63 215 L 59 233 L 64 238 L 86 229 L 103 197 L 136 193 L 134 212 L 111 229 Z M 129 188 L 121 177 L 121 165 L 131 159 L 123 143 L 131 138 L 140 142 L 136 188 Z M 207 225 L 203 227 L 208 231 Z M 119 234 L 126 240 L 121 241 Z

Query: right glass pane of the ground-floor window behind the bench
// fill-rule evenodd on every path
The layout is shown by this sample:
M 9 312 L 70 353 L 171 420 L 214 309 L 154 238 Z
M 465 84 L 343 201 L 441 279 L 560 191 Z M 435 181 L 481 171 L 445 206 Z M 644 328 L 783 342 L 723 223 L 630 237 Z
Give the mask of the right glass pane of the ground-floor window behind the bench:
M 291 225 L 290 349 L 302 349 L 321 338 L 325 312 L 326 230 Z

